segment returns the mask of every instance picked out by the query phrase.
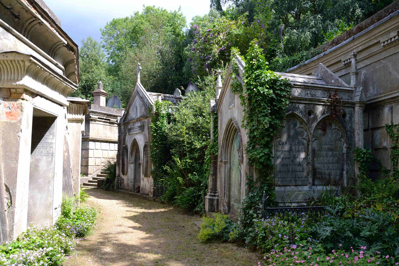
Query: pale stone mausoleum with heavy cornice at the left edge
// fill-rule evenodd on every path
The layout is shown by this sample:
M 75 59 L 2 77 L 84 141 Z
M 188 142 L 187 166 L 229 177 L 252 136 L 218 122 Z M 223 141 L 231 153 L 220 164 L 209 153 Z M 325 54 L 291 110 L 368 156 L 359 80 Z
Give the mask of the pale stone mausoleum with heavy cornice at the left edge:
M 50 225 L 79 194 L 87 101 L 77 44 L 41 0 L 0 4 L 0 242 Z

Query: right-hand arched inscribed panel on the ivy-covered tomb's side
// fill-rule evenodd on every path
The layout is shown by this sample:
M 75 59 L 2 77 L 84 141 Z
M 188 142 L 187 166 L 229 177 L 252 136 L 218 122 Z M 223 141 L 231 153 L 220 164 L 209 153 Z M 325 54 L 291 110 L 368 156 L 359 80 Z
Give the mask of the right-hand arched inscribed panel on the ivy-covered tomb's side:
M 335 122 L 322 122 L 312 137 L 313 185 L 339 185 L 344 174 L 344 142 Z

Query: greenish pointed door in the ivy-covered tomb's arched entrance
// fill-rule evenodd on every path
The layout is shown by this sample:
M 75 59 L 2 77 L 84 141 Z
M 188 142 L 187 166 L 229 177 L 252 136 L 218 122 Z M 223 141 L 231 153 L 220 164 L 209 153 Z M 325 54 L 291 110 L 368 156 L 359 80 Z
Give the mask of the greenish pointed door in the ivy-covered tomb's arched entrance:
M 240 138 L 235 131 L 230 153 L 230 212 L 238 213 L 241 204 L 241 166 L 239 160 Z

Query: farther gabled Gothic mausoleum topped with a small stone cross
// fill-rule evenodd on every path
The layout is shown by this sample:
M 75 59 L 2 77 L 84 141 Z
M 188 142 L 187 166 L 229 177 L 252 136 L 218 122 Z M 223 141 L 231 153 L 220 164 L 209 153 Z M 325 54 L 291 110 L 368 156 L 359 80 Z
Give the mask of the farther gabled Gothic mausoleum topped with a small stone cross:
M 156 100 L 168 100 L 170 109 L 182 100 L 180 90 L 174 95 L 146 91 L 140 83 L 140 64 L 137 64 L 137 83 L 118 124 L 119 147 L 115 187 L 154 196 L 150 160 L 150 123 Z M 192 91 L 196 86 L 192 85 Z

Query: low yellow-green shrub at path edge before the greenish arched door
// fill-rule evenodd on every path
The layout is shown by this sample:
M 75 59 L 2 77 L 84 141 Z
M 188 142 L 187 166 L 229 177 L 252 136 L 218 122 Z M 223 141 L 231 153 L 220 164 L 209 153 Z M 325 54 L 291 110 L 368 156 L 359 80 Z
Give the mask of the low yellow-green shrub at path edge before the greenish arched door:
M 209 242 L 211 240 L 229 240 L 229 234 L 237 224 L 229 219 L 229 215 L 215 213 L 213 216 L 215 219 L 206 216 L 201 218 L 202 224 L 198 239 L 201 242 Z

